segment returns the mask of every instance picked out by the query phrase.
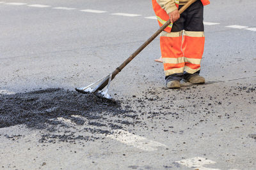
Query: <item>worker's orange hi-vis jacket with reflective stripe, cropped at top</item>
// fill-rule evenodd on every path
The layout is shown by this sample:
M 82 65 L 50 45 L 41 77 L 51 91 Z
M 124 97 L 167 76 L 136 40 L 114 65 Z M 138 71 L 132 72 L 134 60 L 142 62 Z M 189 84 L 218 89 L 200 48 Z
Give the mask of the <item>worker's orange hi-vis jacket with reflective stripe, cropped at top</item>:
M 169 0 L 170 1 L 170 0 Z M 200 0 L 203 5 L 210 4 L 209 0 Z M 179 0 L 174 0 L 177 8 L 179 7 Z M 157 3 L 157 0 L 152 0 L 153 9 L 156 13 L 157 21 L 159 26 L 161 27 L 166 21 L 169 20 L 169 15 L 166 13 L 166 11 L 161 8 L 161 6 Z M 166 29 L 164 29 L 166 32 L 172 31 L 172 24 L 170 24 Z

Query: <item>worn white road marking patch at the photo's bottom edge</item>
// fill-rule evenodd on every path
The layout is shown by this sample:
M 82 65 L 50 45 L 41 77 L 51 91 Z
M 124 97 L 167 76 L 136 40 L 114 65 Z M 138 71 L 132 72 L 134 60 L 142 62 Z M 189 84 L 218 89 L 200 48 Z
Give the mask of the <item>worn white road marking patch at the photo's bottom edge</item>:
M 202 158 L 202 157 L 195 157 L 195 158 L 180 160 L 180 161 L 176 161 L 176 162 L 183 165 L 183 166 L 190 167 L 190 168 L 193 168 L 193 169 L 220 170 L 220 169 L 204 167 L 204 165 L 216 164 L 216 162 L 214 162 L 212 160 L 209 160 L 209 159 Z

